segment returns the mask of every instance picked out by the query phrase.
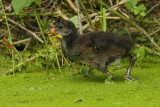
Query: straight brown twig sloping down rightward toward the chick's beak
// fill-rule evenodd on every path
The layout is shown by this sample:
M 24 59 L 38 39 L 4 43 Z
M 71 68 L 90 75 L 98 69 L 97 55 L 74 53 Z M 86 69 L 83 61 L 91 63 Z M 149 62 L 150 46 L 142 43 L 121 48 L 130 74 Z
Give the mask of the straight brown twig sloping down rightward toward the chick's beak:
M 19 26 L 21 29 L 27 31 L 28 33 L 30 33 L 34 38 L 36 38 L 36 39 L 37 39 L 38 41 L 40 41 L 41 43 L 44 43 L 44 41 L 43 41 L 41 38 L 39 38 L 39 37 L 36 35 L 36 33 L 28 30 L 27 28 L 23 27 L 21 24 L 15 22 L 14 20 L 12 20 L 12 19 L 10 19 L 10 18 L 8 18 L 8 21 L 10 21 L 11 23 Z

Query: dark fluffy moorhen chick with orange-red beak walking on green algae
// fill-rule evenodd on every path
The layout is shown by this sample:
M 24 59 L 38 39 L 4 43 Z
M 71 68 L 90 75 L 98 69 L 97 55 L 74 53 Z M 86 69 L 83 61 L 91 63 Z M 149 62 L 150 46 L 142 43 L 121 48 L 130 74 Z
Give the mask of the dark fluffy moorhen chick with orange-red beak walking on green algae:
M 112 75 L 107 66 L 118 58 L 127 57 L 134 47 L 134 42 L 129 37 L 109 32 L 95 31 L 79 35 L 75 25 L 69 20 L 59 20 L 54 26 L 56 33 L 62 35 L 63 53 L 91 65 L 109 77 Z M 134 62 L 135 59 L 132 57 L 125 74 L 128 81 L 134 80 L 130 76 Z

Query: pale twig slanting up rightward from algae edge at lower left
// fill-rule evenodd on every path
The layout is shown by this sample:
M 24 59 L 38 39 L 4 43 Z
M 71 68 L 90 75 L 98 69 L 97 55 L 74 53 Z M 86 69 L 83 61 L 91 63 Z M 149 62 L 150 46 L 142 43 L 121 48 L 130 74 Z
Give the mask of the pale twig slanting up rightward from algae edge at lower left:
M 25 64 L 33 61 L 33 60 L 35 60 L 37 57 L 38 57 L 38 56 L 33 56 L 33 57 L 27 59 L 26 61 L 24 61 L 24 62 L 22 62 L 22 63 L 19 63 L 18 65 L 16 65 L 15 67 L 9 69 L 8 71 L 3 72 L 1 75 L 2 75 L 2 76 L 3 76 L 3 75 L 6 75 L 6 74 L 12 72 L 13 70 L 16 70 L 18 67 L 21 67 L 21 66 L 23 66 L 23 65 L 25 65 Z

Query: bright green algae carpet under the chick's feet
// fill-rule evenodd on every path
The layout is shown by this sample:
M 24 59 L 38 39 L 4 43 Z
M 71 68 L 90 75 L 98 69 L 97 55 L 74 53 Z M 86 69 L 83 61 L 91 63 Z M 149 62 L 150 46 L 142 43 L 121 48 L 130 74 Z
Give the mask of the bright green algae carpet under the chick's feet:
M 113 80 L 105 82 L 107 77 L 98 71 L 84 77 L 64 69 L 55 75 L 52 69 L 28 66 L 21 73 L 0 77 L 0 107 L 159 106 L 159 66 L 148 59 L 136 64 L 132 71 L 136 81 L 131 82 L 124 80 L 126 68 L 110 67 Z

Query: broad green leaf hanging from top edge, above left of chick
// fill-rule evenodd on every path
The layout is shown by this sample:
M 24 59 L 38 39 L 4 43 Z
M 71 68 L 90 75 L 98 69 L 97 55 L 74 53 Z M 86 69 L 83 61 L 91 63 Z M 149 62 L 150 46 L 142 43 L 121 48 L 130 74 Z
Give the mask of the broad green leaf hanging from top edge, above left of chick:
M 12 0 L 11 4 L 15 12 L 18 14 L 23 8 L 29 7 L 33 2 L 39 6 L 41 4 L 41 0 Z

